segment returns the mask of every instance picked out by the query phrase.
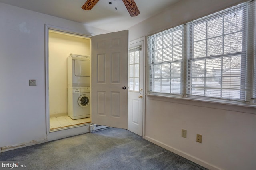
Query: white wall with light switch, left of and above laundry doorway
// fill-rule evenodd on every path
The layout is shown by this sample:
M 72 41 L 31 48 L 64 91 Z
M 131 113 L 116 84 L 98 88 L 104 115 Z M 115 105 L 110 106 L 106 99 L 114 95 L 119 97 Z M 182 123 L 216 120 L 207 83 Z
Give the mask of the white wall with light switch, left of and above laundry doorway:
M 107 33 L 0 3 L 0 147 L 46 141 L 45 24 Z M 29 79 L 37 86 L 28 86 Z

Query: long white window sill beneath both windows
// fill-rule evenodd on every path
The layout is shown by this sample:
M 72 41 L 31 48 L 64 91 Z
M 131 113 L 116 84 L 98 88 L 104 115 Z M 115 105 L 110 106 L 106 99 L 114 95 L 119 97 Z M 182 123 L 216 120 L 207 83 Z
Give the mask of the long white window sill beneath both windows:
M 149 100 L 165 101 L 165 102 L 179 103 L 184 105 L 193 105 L 193 106 L 208 107 L 213 109 L 222 109 L 222 110 L 228 110 L 228 111 L 256 114 L 256 105 L 224 103 L 221 101 L 162 96 L 162 95 L 154 95 L 154 94 L 146 94 L 146 97 Z

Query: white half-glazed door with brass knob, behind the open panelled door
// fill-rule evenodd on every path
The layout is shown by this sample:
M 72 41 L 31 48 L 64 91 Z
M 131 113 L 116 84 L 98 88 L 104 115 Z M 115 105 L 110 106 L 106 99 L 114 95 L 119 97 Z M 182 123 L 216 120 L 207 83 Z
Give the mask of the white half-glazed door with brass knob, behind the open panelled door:
M 144 41 L 130 42 L 128 55 L 128 130 L 142 136 Z

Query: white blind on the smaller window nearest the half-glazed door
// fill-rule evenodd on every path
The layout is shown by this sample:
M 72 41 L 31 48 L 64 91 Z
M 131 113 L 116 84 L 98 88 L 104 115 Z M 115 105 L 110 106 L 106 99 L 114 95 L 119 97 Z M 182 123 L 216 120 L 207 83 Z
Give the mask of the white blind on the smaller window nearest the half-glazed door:
M 182 93 L 183 26 L 147 37 L 148 91 Z

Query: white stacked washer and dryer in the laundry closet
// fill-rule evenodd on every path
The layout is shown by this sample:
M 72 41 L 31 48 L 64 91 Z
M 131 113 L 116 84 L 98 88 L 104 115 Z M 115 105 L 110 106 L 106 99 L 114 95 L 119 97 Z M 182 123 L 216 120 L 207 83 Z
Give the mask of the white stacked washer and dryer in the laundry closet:
M 70 54 L 68 57 L 68 116 L 90 117 L 90 57 Z

